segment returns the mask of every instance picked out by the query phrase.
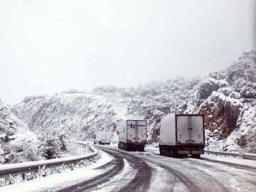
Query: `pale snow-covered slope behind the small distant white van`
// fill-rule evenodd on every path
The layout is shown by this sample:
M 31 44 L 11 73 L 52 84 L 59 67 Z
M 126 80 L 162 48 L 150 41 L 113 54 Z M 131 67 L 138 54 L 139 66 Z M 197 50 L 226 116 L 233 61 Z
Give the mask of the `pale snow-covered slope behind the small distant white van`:
M 80 140 L 92 139 L 95 132 L 102 130 L 116 134 L 118 122 L 126 118 L 126 110 L 126 101 L 117 95 L 102 97 L 75 90 L 26 97 L 13 107 L 14 114 L 36 134 L 52 127 L 63 130 L 70 139 Z

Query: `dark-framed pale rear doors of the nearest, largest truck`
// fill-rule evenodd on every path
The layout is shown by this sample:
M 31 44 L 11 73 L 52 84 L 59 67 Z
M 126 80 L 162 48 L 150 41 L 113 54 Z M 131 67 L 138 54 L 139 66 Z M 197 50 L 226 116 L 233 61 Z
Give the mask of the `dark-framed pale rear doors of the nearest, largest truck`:
M 204 144 L 203 114 L 176 114 L 176 139 L 179 144 Z

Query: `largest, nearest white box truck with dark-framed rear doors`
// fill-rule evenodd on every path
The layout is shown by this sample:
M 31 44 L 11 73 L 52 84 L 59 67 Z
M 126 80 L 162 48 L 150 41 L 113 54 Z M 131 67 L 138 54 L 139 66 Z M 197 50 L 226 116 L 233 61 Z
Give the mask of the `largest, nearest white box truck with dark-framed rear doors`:
M 171 114 L 161 119 L 160 155 L 187 156 L 199 159 L 204 154 L 203 114 Z

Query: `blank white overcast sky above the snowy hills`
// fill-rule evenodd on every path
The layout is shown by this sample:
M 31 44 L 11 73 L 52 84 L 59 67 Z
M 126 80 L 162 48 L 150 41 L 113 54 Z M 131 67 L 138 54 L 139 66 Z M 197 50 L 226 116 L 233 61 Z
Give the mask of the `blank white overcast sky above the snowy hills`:
M 0 0 L 0 97 L 136 87 L 256 49 L 255 0 Z

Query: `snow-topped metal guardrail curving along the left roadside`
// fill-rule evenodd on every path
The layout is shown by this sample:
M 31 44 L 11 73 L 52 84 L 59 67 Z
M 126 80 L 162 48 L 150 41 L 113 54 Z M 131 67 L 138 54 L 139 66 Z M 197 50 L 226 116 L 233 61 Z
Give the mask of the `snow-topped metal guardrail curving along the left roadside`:
M 98 153 L 98 150 L 95 149 L 94 147 L 92 148 L 92 146 L 90 146 L 90 145 L 87 145 L 82 142 L 73 142 L 73 143 L 78 144 L 80 147 L 88 146 L 90 151 L 92 151 L 92 154 L 72 156 L 72 157 L 66 157 L 66 158 L 61 158 L 61 159 L 29 161 L 29 162 L 24 162 L 24 163 L 20 163 L 20 164 L 0 165 L 0 178 L 6 177 L 9 175 L 26 174 L 28 172 L 38 171 L 42 167 L 53 168 L 53 167 L 58 167 L 58 166 L 63 166 L 63 165 L 74 164 L 81 160 L 91 159 L 92 157 L 96 156 Z

